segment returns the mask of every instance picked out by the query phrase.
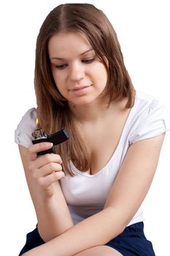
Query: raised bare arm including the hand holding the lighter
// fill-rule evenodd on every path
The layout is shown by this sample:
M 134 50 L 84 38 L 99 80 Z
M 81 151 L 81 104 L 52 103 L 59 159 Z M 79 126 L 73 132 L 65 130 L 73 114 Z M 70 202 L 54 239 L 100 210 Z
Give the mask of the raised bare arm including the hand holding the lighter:
M 64 176 L 60 157 L 56 154 L 36 157 L 36 152 L 45 150 L 47 144 L 39 143 L 30 148 L 19 146 L 39 234 L 44 241 L 51 240 L 73 225 L 58 181 Z

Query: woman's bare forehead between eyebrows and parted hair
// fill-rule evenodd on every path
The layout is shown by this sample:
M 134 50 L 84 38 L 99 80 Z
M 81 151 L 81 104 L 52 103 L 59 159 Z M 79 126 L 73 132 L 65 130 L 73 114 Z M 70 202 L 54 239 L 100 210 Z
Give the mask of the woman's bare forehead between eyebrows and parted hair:
M 48 52 L 53 55 L 65 56 L 66 54 L 80 54 L 92 48 L 85 34 L 78 32 L 58 33 L 50 38 Z

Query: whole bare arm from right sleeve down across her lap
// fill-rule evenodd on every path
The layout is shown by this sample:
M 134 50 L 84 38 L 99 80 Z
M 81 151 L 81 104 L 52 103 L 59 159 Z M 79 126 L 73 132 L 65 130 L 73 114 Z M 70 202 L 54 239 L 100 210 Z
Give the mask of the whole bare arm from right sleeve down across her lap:
M 152 183 L 164 135 L 134 143 L 112 186 L 104 210 L 83 220 L 57 238 L 26 252 L 24 256 L 76 255 L 106 244 L 121 233 L 134 217 Z

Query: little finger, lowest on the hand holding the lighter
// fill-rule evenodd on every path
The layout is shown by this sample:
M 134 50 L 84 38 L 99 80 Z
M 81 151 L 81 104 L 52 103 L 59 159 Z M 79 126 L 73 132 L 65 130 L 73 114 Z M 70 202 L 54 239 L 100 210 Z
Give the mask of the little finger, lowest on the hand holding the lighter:
M 50 184 L 52 184 L 55 181 L 58 181 L 59 179 L 63 178 L 64 176 L 65 176 L 65 174 L 63 173 L 63 171 L 54 172 L 48 176 L 42 177 L 40 179 L 40 184 L 42 187 L 47 188 L 48 186 L 50 186 Z

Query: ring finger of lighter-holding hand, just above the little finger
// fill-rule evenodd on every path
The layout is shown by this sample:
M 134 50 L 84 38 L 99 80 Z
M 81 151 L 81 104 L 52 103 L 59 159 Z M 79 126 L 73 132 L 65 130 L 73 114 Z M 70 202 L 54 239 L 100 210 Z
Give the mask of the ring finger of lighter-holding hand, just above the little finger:
M 50 175 L 50 173 L 54 172 L 61 172 L 62 171 L 62 166 L 55 163 L 55 162 L 50 162 L 49 164 L 41 167 L 39 170 L 36 172 L 36 178 L 40 177 L 45 177 Z

